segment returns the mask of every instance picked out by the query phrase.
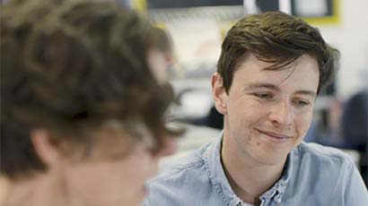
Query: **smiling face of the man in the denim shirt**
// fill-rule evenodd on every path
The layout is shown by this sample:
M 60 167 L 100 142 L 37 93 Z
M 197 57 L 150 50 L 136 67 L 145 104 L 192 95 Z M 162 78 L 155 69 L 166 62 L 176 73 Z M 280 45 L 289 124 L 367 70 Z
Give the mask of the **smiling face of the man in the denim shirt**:
M 224 115 L 224 145 L 265 165 L 283 164 L 302 142 L 319 84 L 311 56 L 282 70 L 265 69 L 270 65 L 249 56 L 233 74 L 228 94 L 223 89 L 216 95 L 214 87 L 216 108 Z M 221 85 L 222 79 L 214 82 Z

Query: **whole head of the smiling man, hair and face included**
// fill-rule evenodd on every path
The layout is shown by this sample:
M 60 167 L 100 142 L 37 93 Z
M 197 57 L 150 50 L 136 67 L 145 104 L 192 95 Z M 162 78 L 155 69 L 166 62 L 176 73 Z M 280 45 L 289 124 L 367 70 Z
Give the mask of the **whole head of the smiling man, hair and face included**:
M 223 40 L 212 78 L 226 147 L 258 163 L 284 164 L 302 142 L 337 60 L 317 29 L 285 13 L 238 21 Z

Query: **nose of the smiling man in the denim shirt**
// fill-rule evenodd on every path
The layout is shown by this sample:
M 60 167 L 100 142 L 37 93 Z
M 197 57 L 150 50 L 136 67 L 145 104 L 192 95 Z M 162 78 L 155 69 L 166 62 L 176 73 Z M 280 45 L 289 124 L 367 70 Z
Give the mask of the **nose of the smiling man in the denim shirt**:
M 293 107 L 288 99 L 280 99 L 272 106 L 269 119 L 276 126 L 288 126 L 292 124 L 294 118 Z

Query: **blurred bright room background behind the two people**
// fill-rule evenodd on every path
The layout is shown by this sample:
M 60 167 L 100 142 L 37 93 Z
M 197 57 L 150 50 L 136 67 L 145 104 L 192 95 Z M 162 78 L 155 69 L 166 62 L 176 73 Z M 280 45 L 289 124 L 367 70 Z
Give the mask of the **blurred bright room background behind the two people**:
M 341 53 L 337 78 L 317 99 L 305 142 L 346 151 L 367 183 L 367 0 L 116 0 L 166 30 L 173 43 L 170 81 L 177 95 L 171 120 L 188 128 L 172 162 L 217 137 L 223 117 L 215 111 L 210 76 L 232 24 L 249 13 L 283 11 L 318 27 Z M 5 4 L 6 0 L 0 3 Z

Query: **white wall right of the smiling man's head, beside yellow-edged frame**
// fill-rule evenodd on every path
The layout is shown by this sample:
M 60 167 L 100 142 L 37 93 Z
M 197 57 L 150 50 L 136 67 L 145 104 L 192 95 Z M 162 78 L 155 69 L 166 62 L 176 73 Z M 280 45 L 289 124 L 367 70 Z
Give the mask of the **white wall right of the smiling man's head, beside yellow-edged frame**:
M 316 25 L 323 37 L 341 52 L 337 96 L 346 99 L 367 87 L 368 0 L 339 0 L 340 23 Z

